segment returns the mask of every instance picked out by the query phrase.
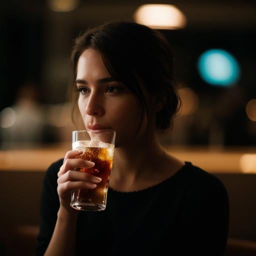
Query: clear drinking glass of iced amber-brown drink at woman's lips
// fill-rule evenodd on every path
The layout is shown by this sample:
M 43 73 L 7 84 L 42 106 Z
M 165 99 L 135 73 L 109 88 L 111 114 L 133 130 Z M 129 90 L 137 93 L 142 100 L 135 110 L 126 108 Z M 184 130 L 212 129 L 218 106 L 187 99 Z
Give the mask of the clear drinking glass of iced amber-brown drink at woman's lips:
M 104 210 L 110 171 L 114 154 L 114 130 L 75 130 L 72 131 L 72 149 L 80 149 L 78 156 L 95 163 L 91 168 L 75 168 L 101 178 L 93 189 L 75 189 L 71 194 L 70 205 L 78 210 Z

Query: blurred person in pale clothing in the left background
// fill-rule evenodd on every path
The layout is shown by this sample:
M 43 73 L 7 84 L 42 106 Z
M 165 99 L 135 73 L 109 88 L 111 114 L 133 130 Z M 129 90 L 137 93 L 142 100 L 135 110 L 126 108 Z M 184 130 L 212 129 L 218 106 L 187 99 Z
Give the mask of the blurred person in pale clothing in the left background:
M 33 81 L 19 88 L 15 103 L 0 114 L 3 148 L 34 147 L 56 140 L 45 122 L 45 109 L 40 103 L 40 91 Z

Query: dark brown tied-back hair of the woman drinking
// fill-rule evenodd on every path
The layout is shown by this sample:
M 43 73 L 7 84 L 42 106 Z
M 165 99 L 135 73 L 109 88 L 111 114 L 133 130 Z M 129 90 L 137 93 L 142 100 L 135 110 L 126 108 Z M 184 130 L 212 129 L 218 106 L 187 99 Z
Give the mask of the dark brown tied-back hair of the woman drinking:
M 163 101 L 163 107 L 156 113 L 156 128 L 164 130 L 170 126 L 180 100 L 174 88 L 172 50 L 161 33 L 123 21 L 87 29 L 74 40 L 73 82 L 78 59 L 87 48 L 98 50 L 109 74 L 137 96 L 143 109 L 141 121 L 144 113 L 150 117 L 150 102 L 143 88 L 148 95 L 154 94 Z

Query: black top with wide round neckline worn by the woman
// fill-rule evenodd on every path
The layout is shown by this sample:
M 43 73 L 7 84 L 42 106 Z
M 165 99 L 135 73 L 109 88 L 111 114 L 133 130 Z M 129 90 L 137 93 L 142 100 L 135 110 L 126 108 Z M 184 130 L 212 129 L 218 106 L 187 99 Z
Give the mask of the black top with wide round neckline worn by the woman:
M 36 248 L 43 255 L 55 226 L 57 172 L 45 173 Z M 79 211 L 76 255 L 224 255 L 228 195 L 222 182 L 192 165 L 149 188 L 120 192 L 108 188 L 106 209 Z

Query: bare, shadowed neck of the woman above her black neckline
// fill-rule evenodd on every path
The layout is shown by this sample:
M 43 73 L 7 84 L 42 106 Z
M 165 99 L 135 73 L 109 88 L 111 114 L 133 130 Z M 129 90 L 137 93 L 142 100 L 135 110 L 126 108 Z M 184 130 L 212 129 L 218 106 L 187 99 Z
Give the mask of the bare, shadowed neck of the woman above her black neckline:
M 135 184 L 151 182 L 162 164 L 164 150 L 157 138 L 147 143 L 133 143 L 114 149 L 114 163 L 109 186 L 116 190 L 132 190 Z

